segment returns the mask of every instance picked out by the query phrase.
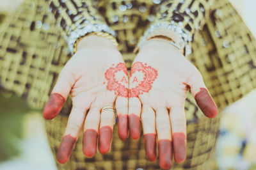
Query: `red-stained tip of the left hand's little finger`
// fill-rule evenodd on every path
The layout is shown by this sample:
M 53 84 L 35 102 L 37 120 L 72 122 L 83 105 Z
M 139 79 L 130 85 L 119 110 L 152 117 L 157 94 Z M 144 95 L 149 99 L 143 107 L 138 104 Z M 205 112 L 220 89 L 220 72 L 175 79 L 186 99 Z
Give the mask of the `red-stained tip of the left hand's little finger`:
M 118 135 L 123 141 L 128 137 L 128 115 L 120 114 L 118 116 Z

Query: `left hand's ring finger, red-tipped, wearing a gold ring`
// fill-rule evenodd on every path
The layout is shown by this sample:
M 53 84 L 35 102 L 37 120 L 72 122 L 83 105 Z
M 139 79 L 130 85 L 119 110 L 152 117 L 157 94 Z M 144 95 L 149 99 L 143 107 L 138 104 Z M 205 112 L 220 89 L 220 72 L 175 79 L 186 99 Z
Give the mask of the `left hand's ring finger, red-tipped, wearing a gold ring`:
M 115 123 L 115 112 L 104 110 L 100 114 L 99 151 L 102 154 L 108 153 Z

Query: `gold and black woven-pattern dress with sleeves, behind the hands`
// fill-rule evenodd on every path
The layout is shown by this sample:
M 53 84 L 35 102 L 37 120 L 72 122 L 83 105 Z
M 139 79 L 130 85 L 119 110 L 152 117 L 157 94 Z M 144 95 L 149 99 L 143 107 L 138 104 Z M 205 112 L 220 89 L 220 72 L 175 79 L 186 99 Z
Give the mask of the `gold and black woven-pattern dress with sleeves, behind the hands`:
M 79 36 L 93 31 L 116 34 L 127 68 L 150 26 L 175 27 L 186 56 L 204 77 L 219 109 L 256 86 L 256 43 L 228 0 L 26 0 L 0 27 L 0 86 L 42 112 L 61 68 Z M 115 32 L 114 32 L 115 31 Z M 67 43 L 66 43 L 66 42 Z M 65 130 L 71 100 L 46 121 L 52 152 Z M 173 169 L 207 169 L 214 153 L 219 120 L 206 118 L 189 94 L 186 100 L 187 159 Z M 141 133 L 142 134 L 142 133 Z M 116 128 L 111 151 L 83 155 L 81 137 L 70 160 L 59 169 L 159 169 L 145 158 L 143 137 L 121 141 Z

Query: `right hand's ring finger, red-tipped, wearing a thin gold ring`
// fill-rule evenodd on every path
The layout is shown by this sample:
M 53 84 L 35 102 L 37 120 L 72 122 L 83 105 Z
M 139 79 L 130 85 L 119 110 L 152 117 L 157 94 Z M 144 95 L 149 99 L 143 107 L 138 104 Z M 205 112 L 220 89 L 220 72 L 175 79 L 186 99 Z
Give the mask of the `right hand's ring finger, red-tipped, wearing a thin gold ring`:
M 151 107 L 143 106 L 141 121 L 143 126 L 145 151 L 148 160 L 156 161 L 156 119 L 155 111 Z

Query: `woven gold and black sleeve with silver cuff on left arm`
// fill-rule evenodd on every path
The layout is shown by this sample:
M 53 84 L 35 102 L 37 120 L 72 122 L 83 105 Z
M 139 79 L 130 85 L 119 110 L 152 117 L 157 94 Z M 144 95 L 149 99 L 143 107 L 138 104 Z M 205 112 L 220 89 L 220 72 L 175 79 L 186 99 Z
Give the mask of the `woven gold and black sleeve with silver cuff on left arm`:
M 49 11 L 56 19 L 56 26 L 63 30 L 68 49 L 73 52 L 74 43 L 81 36 L 92 32 L 106 32 L 115 36 L 102 16 L 98 13 L 93 0 L 45 0 Z

